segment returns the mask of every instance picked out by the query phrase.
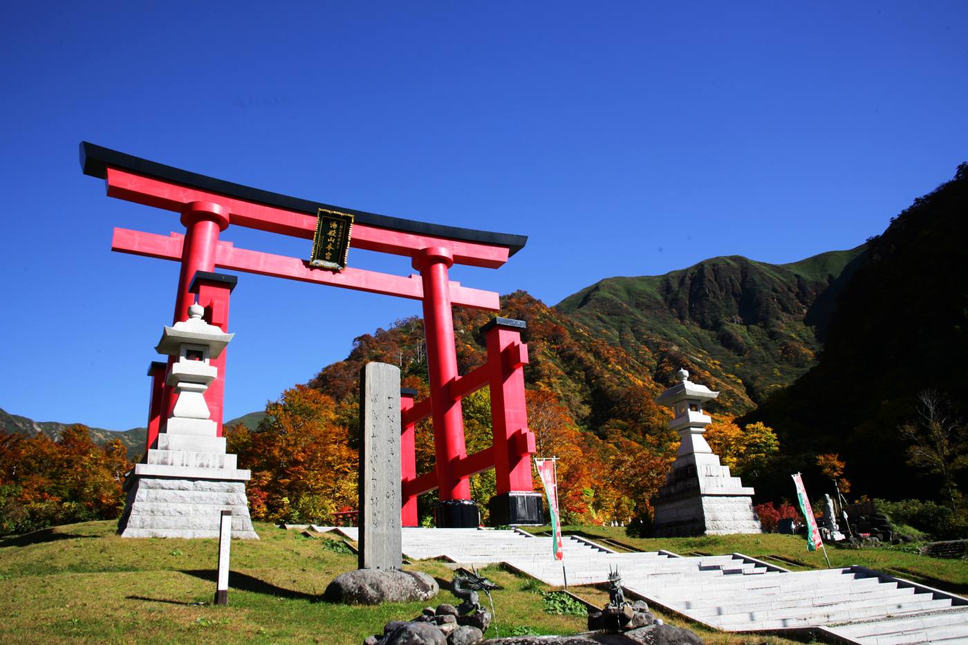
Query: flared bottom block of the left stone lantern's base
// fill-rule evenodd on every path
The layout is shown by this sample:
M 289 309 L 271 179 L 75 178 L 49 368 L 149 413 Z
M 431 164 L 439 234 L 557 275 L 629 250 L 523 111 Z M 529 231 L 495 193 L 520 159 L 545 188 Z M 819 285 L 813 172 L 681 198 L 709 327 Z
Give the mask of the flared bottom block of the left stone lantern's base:
M 121 537 L 219 537 L 223 510 L 232 511 L 232 537 L 258 539 L 244 481 L 133 474 Z

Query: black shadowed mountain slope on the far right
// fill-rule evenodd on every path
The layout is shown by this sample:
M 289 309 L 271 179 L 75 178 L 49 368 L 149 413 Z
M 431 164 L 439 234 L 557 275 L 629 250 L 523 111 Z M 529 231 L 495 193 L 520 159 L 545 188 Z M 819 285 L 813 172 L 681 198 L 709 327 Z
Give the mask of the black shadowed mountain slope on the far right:
M 966 237 L 962 164 L 868 240 L 816 365 L 747 418 L 791 452 L 839 452 L 855 494 L 935 498 L 940 479 L 906 464 L 898 426 L 917 420 L 929 389 L 951 401 L 953 419 L 968 414 Z

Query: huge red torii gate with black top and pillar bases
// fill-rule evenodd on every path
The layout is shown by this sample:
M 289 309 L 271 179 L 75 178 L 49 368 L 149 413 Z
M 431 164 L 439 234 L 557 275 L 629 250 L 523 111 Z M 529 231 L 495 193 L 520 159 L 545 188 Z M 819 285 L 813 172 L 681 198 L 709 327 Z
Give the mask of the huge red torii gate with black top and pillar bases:
M 462 377 L 457 370 L 451 306 L 498 311 L 499 296 L 496 292 L 462 287 L 448 278 L 454 263 L 498 268 L 524 247 L 526 236 L 415 222 L 300 200 L 172 168 L 86 141 L 80 144 L 80 161 L 84 174 L 106 180 L 108 197 L 181 214 L 184 233 L 165 236 L 115 228 L 111 244 L 113 251 L 181 262 L 175 323 L 187 320 L 188 307 L 196 299 L 193 294 L 197 294 L 198 304 L 205 308 L 205 320 L 227 330 L 228 299 L 236 278 L 217 273 L 216 268 L 421 300 L 430 396 L 415 402 L 415 391 L 401 392 L 404 526 L 417 523 L 417 496 L 435 488 L 440 500 L 438 526 L 476 526 L 478 514 L 470 501 L 468 477 L 490 468 L 495 469 L 497 479 L 497 495 L 489 504 L 492 521 L 543 521 L 540 495 L 533 492 L 531 484 L 534 435 L 528 429 L 525 406 L 523 366 L 528 362 L 528 347 L 521 343 L 525 323 L 496 318 L 486 324 L 482 331 L 487 338 L 488 361 Z M 403 277 L 352 267 L 337 272 L 310 266 L 299 258 L 239 249 L 231 242 L 219 240 L 219 233 L 229 224 L 312 239 L 319 208 L 354 216 L 353 247 L 409 257 L 419 275 Z M 226 352 L 212 361 L 219 376 L 205 394 L 220 436 L 225 361 Z M 148 370 L 152 377 L 148 448 L 157 442 L 175 404 L 173 391 L 164 384 L 167 367 L 165 363 L 153 362 Z M 494 445 L 467 455 L 461 399 L 484 386 L 491 387 Z M 413 429 L 428 416 L 434 425 L 436 467 L 418 477 Z

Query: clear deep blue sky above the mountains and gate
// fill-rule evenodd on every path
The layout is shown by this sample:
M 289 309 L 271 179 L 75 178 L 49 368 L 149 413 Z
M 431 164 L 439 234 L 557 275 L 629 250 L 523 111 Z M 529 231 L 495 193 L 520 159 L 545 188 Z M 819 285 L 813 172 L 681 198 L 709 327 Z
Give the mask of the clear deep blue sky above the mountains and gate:
M 0 408 L 144 424 L 178 267 L 111 253 L 111 230 L 181 228 L 107 199 L 80 172 L 82 139 L 309 200 L 527 234 L 499 270 L 452 276 L 549 305 L 614 275 L 857 246 L 968 161 L 968 5 L 846 4 L 12 5 Z M 252 230 L 223 239 L 309 255 Z M 417 314 L 415 301 L 241 274 L 227 418 Z

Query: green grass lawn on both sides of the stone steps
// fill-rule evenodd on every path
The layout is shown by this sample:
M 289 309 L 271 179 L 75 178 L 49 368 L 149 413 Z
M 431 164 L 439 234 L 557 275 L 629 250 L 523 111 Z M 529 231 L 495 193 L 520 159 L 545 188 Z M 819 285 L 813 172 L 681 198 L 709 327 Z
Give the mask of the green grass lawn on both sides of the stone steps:
M 425 604 L 457 602 L 445 591 L 452 571 L 435 561 L 413 566 L 441 583 L 439 596 L 429 603 L 370 607 L 324 602 L 320 597 L 326 585 L 339 573 L 356 568 L 356 557 L 326 548 L 332 545 L 328 537 L 305 537 L 257 523 L 261 540 L 232 542 L 229 604 L 213 606 L 215 539 L 122 539 L 114 535 L 114 528 L 114 522 L 88 522 L 0 539 L 0 642 L 356 644 L 381 632 L 389 620 L 416 616 Z M 621 529 L 572 528 L 642 548 L 683 554 L 695 550 L 778 554 L 810 566 L 818 564 L 816 554 L 808 554 L 798 537 L 637 540 L 624 537 Z M 889 564 L 925 575 L 930 572 L 950 586 L 968 584 L 968 568 L 961 561 L 887 549 L 832 550 L 831 558 L 837 564 L 880 568 Z M 543 584 L 499 567 L 487 568 L 485 574 L 501 587 L 494 592 L 501 635 L 585 629 L 584 616 L 543 611 L 541 593 L 550 591 Z M 591 587 L 572 591 L 599 604 L 605 598 L 601 590 Z M 794 642 L 725 634 L 658 615 L 717 645 Z M 494 626 L 487 635 L 496 635 Z

